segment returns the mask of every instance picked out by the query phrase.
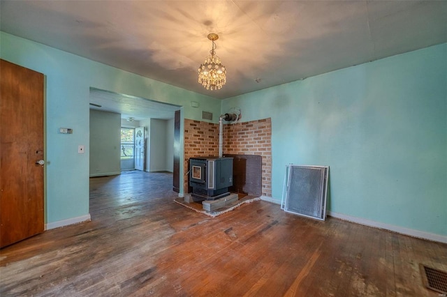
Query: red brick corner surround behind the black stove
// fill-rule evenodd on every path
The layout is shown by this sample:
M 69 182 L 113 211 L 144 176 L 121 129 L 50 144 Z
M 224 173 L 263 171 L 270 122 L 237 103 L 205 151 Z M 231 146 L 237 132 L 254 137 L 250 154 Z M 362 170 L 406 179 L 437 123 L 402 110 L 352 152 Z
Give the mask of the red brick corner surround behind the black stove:
M 272 122 L 269 119 L 223 125 L 223 154 L 261 155 L 263 196 L 272 197 Z M 219 124 L 184 121 L 184 172 L 189 158 L 219 155 Z M 188 176 L 184 176 L 188 189 Z

